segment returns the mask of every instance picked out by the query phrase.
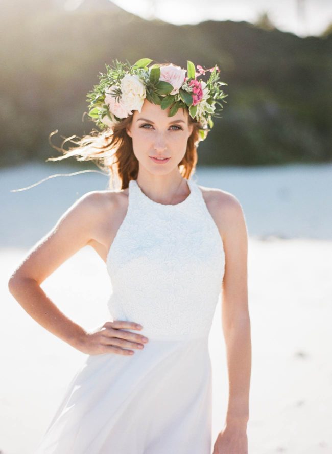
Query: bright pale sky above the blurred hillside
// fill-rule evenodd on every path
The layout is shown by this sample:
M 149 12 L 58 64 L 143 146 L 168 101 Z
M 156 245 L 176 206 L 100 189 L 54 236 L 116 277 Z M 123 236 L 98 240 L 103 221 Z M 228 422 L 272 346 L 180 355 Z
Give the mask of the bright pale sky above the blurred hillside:
M 262 12 L 282 31 L 299 36 L 319 35 L 332 22 L 332 0 L 113 0 L 121 8 L 146 19 L 172 24 L 203 20 L 254 22 Z

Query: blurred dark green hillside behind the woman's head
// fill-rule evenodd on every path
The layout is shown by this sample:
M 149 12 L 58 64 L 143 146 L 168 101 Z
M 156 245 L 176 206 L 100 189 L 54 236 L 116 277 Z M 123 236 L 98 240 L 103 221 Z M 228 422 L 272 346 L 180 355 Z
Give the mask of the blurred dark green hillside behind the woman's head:
M 58 156 L 48 142 L 56 129 L 52 142 L 58 146 L 61 137 L 90 132 L 95 125 L 83 113 L 97 74 L 115 58 L 134 63 L 142 57 L 185 68 L 187 60 L 219 65 L 220 79 L 228 84 L 227 104 L 199 145 L 199 164 L 331 161 L 328 30 L 322 37 L 300 38 L 273 28 L 266 17 L 256 25 L 174 26 L 121 9 L 28 7 L 7 11 L 0 26 L 1 166 Z

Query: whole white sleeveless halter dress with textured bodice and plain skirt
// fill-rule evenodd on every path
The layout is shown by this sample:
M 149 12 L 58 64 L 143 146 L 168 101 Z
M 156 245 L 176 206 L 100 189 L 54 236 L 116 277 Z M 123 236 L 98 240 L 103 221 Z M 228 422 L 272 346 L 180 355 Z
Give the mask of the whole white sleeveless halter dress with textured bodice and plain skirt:
M 201 189 L 176 205 L 129 182 L 107 255 L 111 320 L 143 325 L 133 355 L 87 355 L 35 454 L 210 454 L 208 335 L 221 291 L 222 238 Z

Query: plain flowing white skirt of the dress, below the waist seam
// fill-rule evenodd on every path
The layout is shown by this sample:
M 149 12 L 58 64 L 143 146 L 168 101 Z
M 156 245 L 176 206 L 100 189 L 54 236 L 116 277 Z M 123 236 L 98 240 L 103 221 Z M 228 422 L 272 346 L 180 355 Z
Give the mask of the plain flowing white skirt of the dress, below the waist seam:
M 87 355 L 34 454 L 210 454 L 208 338 Z

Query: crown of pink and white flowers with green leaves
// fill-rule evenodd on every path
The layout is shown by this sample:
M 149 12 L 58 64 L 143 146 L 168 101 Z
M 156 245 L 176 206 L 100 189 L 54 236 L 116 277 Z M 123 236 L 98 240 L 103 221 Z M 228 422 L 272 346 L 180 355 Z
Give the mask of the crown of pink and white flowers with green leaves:
M 179 108 L 187 108 L 189 115 L 198 121 L 199 140 L 206 138 L 208 127 L 214 123 L 212 116 L 218 117 L 223 109 L 225 95 L 221 90 L 225 82 L 219 81 L 220 70 L 217 65 L 203 69 L 187 60 L 187 70 L 172 63 L 154 64 L 150 67 L 150 58 L 141 58 L 131 66 L 128 60 L 122 63 L 113 60 L 113 66 L 106 66 L 106 74 L 99 73 L 100 83 L 87 93 L 89 116 L 100 129 L 112 127 L 131 115 L 132 110 L 141 111 L 145 98 L 158 104 L 164 110 L 170 107 L 169 117 L 173 117 Z M 187 77 L 185 73 L 187 72 Z M 205 82 L 200 77 L 210 72 Z M 220 107 L 216 108 L 216 104 Z

